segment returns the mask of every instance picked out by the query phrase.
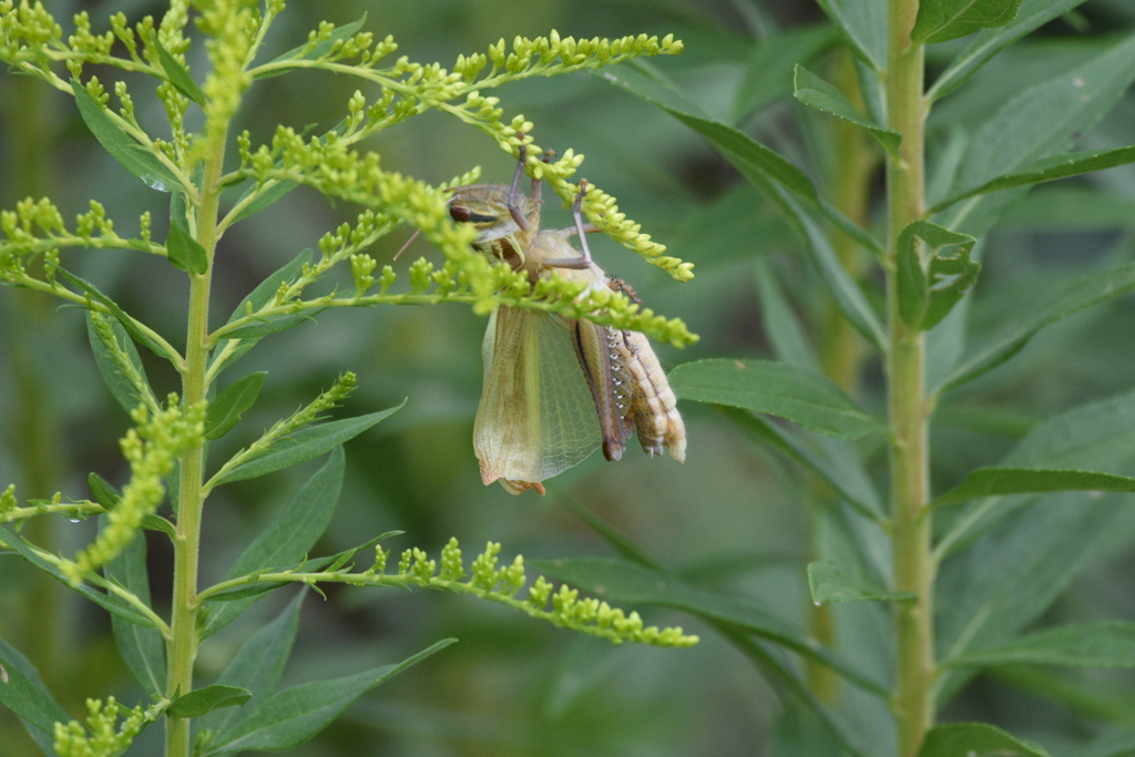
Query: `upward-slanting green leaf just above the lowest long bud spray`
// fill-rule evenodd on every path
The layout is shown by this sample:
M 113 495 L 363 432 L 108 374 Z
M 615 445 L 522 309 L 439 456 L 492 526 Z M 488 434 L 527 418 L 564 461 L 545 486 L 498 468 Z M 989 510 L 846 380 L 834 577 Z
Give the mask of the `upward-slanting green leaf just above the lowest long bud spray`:
M 331 522 L 343 488 L 345 460 L 342 447 L 333 449 L 327 463 L 308 479 L 292 502 L 237 557 L 224 580 L 283 569 L 302 561 Z M 212 607 L 201 626 L 201 638 L 205 639 L 225 628 L 253 602 L 255 598 Z

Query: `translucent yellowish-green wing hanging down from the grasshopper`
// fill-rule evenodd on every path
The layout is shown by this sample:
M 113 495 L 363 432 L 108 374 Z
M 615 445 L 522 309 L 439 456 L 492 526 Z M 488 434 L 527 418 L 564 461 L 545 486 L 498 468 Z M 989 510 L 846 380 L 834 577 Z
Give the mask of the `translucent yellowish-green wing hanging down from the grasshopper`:
M 473 448 L 485 483 L 518 494 L 582 462 L 600 444 L 595 403 L 570 327 L 558 316 L 501 306 L 481 346 L 485 381 Z

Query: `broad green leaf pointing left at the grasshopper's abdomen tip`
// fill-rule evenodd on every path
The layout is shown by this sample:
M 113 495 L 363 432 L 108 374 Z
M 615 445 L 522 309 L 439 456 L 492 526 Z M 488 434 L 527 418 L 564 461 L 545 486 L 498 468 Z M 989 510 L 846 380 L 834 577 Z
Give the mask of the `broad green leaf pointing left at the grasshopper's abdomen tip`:
M 670 385 L 683 399 L 768 413 L 844 439 L 884 430 L 834 381 L 788 363 L 721 359 L 683 363 L 670 372 Z

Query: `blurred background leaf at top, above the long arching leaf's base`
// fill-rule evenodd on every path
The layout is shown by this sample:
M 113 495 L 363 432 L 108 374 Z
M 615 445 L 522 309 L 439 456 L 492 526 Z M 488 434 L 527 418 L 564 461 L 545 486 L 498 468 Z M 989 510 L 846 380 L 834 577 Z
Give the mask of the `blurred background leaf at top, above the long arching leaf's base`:
M 780 31 L 753 45 L 733 100 L 733 123 L 792 92 L 792 69 L 832 47 L 839 32 L 831 24 Z

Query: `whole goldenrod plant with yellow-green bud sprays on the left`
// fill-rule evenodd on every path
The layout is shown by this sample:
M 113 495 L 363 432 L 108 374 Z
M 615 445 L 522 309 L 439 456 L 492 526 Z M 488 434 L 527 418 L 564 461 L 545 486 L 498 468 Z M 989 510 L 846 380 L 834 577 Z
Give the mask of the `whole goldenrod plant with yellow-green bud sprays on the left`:
M 52 748 L 60 757 L 119 755 L 149 723 L 162 717 L 170 757 L 187 757 L 191 721 L 195 720 L 201 726 L 194 747 L 199 755 L 288 749 L 319 733 L 375 685 L 453 641 L 434 644 L 400 664 L 276 691 L 296 636 L 296 598 L 277 621 L 253 634 L 217 682 L 194 682 L 199 645 L 272 589 L 292 582 L 422 587 L 466 594 L 616 645 L 633 641 L 688 647 L 698 640 L 678 628 L 647 625 L 634 612 L 628 614 L 605 602 L 581 598 L 570 587 L 555 589 L 543 577 L 528 588 L 527 598 L 518 598 L 528 583 L 523 558 L 518 556 L 498 566 L 501 546 L 495 542 L 473 560 L 468 573 L 454 539 L 442 550 L 439 573 L 435 561 L 413 548 L 403 554 L 397 572 L 388 574 L 388 553 L 377 545 L 400 533 L 394 531 L 353 549 L 309 558 L 339 501 L 345 468 L 342 445 L 388 418 L 405 401 L 386 411 L 320 423 L 355 387 L 355 375 L 343 372 L 326 392 L 234 452 L 229 435 L 239 432 L 242 417 L 260 412 L 258 399 L 266 379 L 270 380 L 269 372 L 250 373 L 218 390 L 221 373 L 262 339 L 312 321 L 331 308 L 462 302 L 486 314 L 507 304 L 594 319 L 676 346 L 695 342 L 696 335 L 681 320 L 656 316 L 622 293 L 585 293 L 568 277 L 529 281 L 477 252 L 470 244 L 476 233 L 449 218 L 448 200 L 452 188 L 477 180 L 479 168 L 432 186 L 385 170 L 378 153 L 356 146 L 363 138 L 427 110 L 439 110 L 473 126 L 513 154 L 527 146 L 532 157 L 524 169 L 570 203 L 585 186 L 582 180 L 578 185 L 569 180 L 580 168 L 582 155 L 566 150 L 557 160 L 541 161 L 541 151 L 530 136 L 535 125 L 521 115 L 506 118 L 499 100 L 485 92 L 535 76 L 673 54 L 681 51 L 682 43 L 672 35 L 661 41 L 645 34 L 575 40 L 552 32 L 535 40 L 518 36 L 511 49 L 501 40 L 487 53 L 460 56 L 447 70 L 438 64 L 411 62 L 406 57 L 390 62 L 397 44 L 392 36 L 379 39 L 364 31 L 364 16 L 340 27 L 325 22 L 304 44 L 258 62 L 261 45 L 283 11 L 280 0 L 262 5 L 173 0 L 160 22 L 146 16 L 131 24 L 125 15 L 116 14 L 109 19 L 109 31 L 102 33 L 93 31 L 84 11 L 74 17 L 74 33 L 65 35 L 41 3 L 0 1 L 0 62 L 74 98 L 82 123 L 101 148 L 149 188 L 170 194 L 163 244 L 151 239 L 149 211 L 140 218 L 138 234 L 127 238 L 116 232 L 104 205 L 94 200 L 70 228 L 57 204 L 47 197 L 22 200 L 15 210 L 0 213 L 0 283 L 53 295 L 87 312 L 87 335 L 99 372 L 134 421 L 121 440 L 129 477 L 120 493 L 92 473 L 93 501 L 65 501 L 57 494 L 50 501 L 20 503 L 14 487 L 0 495 L 0 522 L 15 523 L 17 529 L 44 515 L 99 515 L 98 535 L 73 560 L 7 528 L 0 530 L 0 548 L 65 581 L 111 613 L 121 659 L 153 703 L 124 710 L 112 697 L 106 704 L 91 699 L 85 724 L 72 721 L 34 668 L 5 645 L 0 648 L 0 701 L 41 733 L 40 743 L 53 737 Z M 192 33 L 191 20 L 195 26 Z M 193 48 L 203 50 L 197 54 Z M 98 66 L 107 82 L 87 76 L 89 66 Z M 373 93 L 373 99 L 368 102 L 356 90 L 339 125 L 319 135 L 309 136 L 308 129 L 279 124 L 264 144 L 254 145 L 245 131 L 229 145 L 234 118 L 250 89 L 297 69 L 351 77 Z M 129 82 L 137 89 L 144 81 L 137 75 L 157 82 L 157 104 L 169 126 L 166 136 L 154 136 L 152 119 L 138 118 L 142 104 L 135 103 L 127 85 Z M 226 151 L 233 148 L 238 161 L 226 160 Z M 233 167 L 226 174 L 229 162 Z M 342 224 L 325 234 L 318 253 L 300 253 L 269 276 L 224 326 L 211 330 L 208 313 L 215 277 L 219 280 L 226 275 L 217 264 L 226 254 L 218 241 L 299 186 L 358 205 L 361 212 L 354 224 Z M 674 279 L 692 278 L 690 263 L 664 255 L 665 246 L 627 218 L 612 195 L 591 183 L 587 186 L 583 212 L 594 226 Z M 228 187 L 241 187 L 232 204 Z M 394 267 L 379 270 L 368 250 L 403 224 L 421 232 L 445 262 L 436 266 L 422 258 L 412 263 L 404 275 L 406 289 L 394 292 L 400 278 Z M 190 293 L 183 313 L 187 319 L 184 350 L 175 347 L 144 317 L 127 313 L 114 296 L 78 276 L 75 271 L 85 266 L 72 259 L 70 250 L 66 261 L 62 254 L 65 249 L 76 247 L 101 254 L 136 251 L 163 256 L 186 274 L 183 280 Z M 348 272 L 353 288 L 340 288 L 336 283 L 339 271 Z M 313 286 L 322 291 L 312 294 L 309 287 Z M 148 371 L 135 345 L 145 346 L 168 363 L 180 379 L 180 397 L 170 394 L 165 403 L 158 399 L 150 375 L 159 376 L 166 367 Z M 210 460 L 210 443 L 224 451 L 220 460 Z M 225 579 L 199 587 L 203 505 L 213 489 L 328 453 L 326 465 L 251 541 Z M 158 515 L 167 495 L 171 520 Z M 148 549 L 140 535 L 143 529 L 163 532 L 173 545 L 177 578 L 168 603 L 151 597 Z M 377 549 L 372 567 L 353 572 L 354 556 L 371 548 Z M 167 611 L 158 609 L 167 606 L 168 619 Z

